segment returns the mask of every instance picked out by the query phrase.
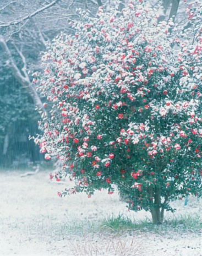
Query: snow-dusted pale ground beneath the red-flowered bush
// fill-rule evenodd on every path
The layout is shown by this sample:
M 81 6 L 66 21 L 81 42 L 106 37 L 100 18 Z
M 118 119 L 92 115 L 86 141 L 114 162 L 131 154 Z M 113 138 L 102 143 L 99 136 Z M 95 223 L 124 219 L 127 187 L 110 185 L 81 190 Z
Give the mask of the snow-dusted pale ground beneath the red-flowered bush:
M 0 172 L 0 255 L 202 255 L 202 236 L 192 230 L 159 233 L 136 230 L 114 236 L 95 232 L 96 224 L 119 213 L 136 221 L 150 214 L 128 212 L 118 193 L 96 192 L 59 198 L 57 192 L 71 183 L 48 179 L 47 172 L 20 177 L 19 172 Z M 200 214 L 202 199 L 173 203 L 176 216 Z M 166 214 L 169 219 L 172 214 Z

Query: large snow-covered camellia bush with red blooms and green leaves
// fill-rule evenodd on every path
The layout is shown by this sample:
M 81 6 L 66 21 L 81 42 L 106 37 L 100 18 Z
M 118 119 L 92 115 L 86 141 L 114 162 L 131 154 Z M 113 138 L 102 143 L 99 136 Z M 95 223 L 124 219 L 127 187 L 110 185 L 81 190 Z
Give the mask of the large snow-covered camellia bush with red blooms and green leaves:
M 34 74 L 48 110 L 35 143 L 63 162 L 58 181 L 75 181 L 59 196 L 116 185 L 128 210 L 150 211 L 155 224 L 171 200 L 201 197 L 201 6 L 187 13 L 190 30 L 157 24 L 140 0 L 96 18 L 80 11 L 75 35 L 47 47 Z

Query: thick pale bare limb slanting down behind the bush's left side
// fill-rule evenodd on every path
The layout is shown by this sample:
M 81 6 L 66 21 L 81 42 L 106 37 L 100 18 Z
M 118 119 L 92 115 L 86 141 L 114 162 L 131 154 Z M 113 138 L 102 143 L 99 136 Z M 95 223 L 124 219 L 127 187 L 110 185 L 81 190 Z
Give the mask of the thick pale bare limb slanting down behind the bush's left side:
M 12 70 L 15 78 L 28 91 L 28 93 L 32 97 L 32 100 L 34 101 L 35 105 L 38 108 L 42 108 L 43 111 L 44 111 L 44 107 L 43 107 L 43 104 L 42 104 L 42 102 L 40 100 L 40 97 L 37 94 L 35 88 L 32 86 L 32 83 L 31 83 L 31 81 L 29 79 L 29 76 L 26 73 L 26 70 L 25 70 L 26 61 L 25 61 L 25 57 L 23 56 L 23 53 L 20 53 L 19 50 L 18 50 L 18 52 L 20 53 L 20 56 L 21 56 L 21 58 L 23 60 L 23 63 L 24 63 L 23 73 L 25 74 L 25 76 L 23 76 L 21 74 L 19 68 L 16 66 L 15 62 L 13 61 L 13 57 L 12 57 L 12 55 L 10 53 L 10 50 L 9 50 L 6 42 L 4 41 L 4 38 L 3 38 L 2 35 L 0 35 L 0 46 L 2 47 L 3 51 L 6 53 L 6 56 L 8 57 L 8 63 L 9 63 L 10 69 Z

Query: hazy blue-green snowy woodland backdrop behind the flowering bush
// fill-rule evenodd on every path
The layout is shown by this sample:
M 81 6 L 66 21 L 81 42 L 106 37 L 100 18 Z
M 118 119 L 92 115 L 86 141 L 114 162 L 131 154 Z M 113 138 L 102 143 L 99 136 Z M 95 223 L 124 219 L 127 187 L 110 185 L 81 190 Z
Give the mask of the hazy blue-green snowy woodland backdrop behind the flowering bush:
M 74 34 L 69 20 L 78 20 L 77 8 L 97 9 L 119 5 L 127 0 L 1 0 L 0 2 L 0 165 L 39 161 L 40 155 L 29 135 L 37 130 L 40 118 L 35 106 L 42 108 L 29 70 L 40 69 L 40 52 L 61 31 Z M 185 24 L 184 3 L 179 0 L 145 0 L 160 11 L 159 21 L 177 14 L 176 22 Z M 23 160 L 23 161 L 22 161 Z

